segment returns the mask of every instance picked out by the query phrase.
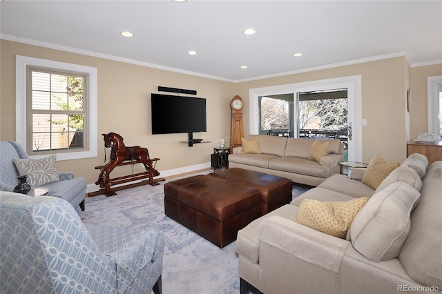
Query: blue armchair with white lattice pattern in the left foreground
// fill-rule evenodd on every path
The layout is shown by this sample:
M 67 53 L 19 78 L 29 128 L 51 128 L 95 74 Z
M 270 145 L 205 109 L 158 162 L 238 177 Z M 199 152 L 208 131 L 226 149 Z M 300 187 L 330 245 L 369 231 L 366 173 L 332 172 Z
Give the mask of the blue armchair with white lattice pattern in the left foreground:
M 161 293 L 155 231 L 82 224 L 50 196 L 0 192 L 0 293 Z

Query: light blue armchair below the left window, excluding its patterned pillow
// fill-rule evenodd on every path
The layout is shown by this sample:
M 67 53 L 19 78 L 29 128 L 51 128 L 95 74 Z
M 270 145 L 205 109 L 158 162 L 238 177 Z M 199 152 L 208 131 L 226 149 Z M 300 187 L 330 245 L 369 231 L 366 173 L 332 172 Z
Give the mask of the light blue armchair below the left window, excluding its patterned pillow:
M 15 141 L 0 141 L 0 191 L 11 191 L 19 184 L 19 175 L 13 159 L 29 159 L 26 151 Z M 77 213 L 84 210 L 86 179 L 74 178 L 73 173 L 58 173 L 59 181 L 48 182 L 41 187 L 48 189 L 48 195 L 60 197 L 74 206 Z M 34 187 L 32 187 L 34 188 Z

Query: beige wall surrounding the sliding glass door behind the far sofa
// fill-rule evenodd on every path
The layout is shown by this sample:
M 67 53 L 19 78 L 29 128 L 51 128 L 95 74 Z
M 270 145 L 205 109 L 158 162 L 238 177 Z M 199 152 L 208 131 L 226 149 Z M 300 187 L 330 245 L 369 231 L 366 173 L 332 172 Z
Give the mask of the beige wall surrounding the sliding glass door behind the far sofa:
M 405 96 L 407 72 L 405 57 L 383 59 L 351 66 L 303 72 L 238 84 L 237 92 L 249 103 L 249 88 L 294 84 L 336 77 L 362 76 L 362 118 L 367 119 L 363 132 L 363 161 L 376 154 L 390 161 L 406 157 Z M 249 132 L 249 115 L 244 119 L 244 132 Z

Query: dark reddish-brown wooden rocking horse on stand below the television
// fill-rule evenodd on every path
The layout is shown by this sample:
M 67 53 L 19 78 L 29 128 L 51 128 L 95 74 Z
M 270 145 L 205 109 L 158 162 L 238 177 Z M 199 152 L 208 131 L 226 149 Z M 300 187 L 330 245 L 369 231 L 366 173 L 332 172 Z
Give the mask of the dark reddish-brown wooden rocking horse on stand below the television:
M 116 190 L 123 190 L 126 188 L 132 188 L 135 186 L 142 186 L 146 184 L 156 186 L 159 184 L 158 182 L 164 181 L 164 178 L 153 179 L 153 177 L 157 177 L 158 175 L 160 175 L 158 170 L 155 170 L 155 166 L 153 166 L 153 164 L 155 165 L 156 161 L 160 159 L 151 159 L 147 148 L 143 148 L 140 146 L 124 146 L 123 137 L 118 135 L 117 133 L 108 133 L 102 135 L 104 137 L 104 147 L 111 148 L 111 161 L 109 161 L 104 166 L 95 166 L 95 169 L 101 170 L 98 176 L 98 180 L 97 182 L 95 182 L 96 185 L 99 185 L 100 189 L 97 192 L 88 193 L 89 197 L 102 194 L 106 196 L 117 195 L 117 193 L 115 193 Z M 104 155 L 104 160 L 106 161 L 106 153 Z M 110 178 L 110 174 L 115 167 L 126 166 L 129 164 L 143 164 L 144 168 L 146 168 L 146 171 L 136 174 L 132 173 L 131 175 L 126 175 L 123 177 L 115 177 L 113 179 Z M 111 189 L 111 186 L 134 182 L 140 179 L 148 180 L 136 182 L 133 184 L 127 184 L 124 186 L 118 186 Z

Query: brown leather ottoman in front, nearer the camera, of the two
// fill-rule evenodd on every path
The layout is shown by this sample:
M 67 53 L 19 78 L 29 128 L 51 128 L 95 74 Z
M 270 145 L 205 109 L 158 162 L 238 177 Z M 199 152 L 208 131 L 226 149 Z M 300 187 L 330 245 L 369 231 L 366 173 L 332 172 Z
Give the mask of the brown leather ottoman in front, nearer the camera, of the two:
M 220 248 L 260 217 L 261 193 L 243 184 L 200 175 L 164 184 L 164 212 Z

